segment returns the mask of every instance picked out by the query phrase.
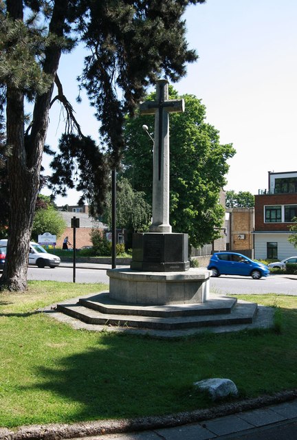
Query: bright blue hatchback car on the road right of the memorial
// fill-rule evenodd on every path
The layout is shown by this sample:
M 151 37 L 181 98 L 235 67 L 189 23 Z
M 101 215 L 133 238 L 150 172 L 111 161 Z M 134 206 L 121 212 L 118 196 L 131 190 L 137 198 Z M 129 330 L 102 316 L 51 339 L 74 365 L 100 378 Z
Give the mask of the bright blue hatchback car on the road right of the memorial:
M 270 274 L 267 265 L 236 252 L 214 252 L 210 258 L 208 270 L 212 270 L 212 276 L 242 275 L 252 276 L 254 280 Z

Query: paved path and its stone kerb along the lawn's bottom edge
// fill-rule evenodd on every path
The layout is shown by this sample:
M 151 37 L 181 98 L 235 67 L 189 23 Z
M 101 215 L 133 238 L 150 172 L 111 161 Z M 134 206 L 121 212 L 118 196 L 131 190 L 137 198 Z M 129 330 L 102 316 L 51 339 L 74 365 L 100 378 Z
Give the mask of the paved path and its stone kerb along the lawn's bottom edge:
M 271 404 L 277 400 L 282 401 Z M 267 401 L 270 405 L 263 406 L 265 399 L 258 398 L 165 417 L 4 428 L 0 429 L 0 439 L 296 440 L 297 391 L 270 396 Z M 216 413 L 219 417 L 214 417 Z

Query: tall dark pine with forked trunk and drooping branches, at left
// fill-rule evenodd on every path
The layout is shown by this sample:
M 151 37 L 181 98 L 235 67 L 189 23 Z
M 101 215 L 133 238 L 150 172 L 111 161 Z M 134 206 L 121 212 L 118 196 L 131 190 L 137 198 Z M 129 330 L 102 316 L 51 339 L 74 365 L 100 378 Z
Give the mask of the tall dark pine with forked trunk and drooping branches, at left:
M 56 157 L 59 175 L 53 184 L 62 191 L 65 185 L 75 186 L 72 177 L 78 170 L 78 189 L 100 206 L 108 165 L 118 166 L 120 159 L 124 114 L 133 113 L 158 76 L 176 81 L 186 74 L 186 63 L 196 60 L 186 43 L 182 15 L 188 4 L 204 1 L 0 0 L 0 113 L 5 116 L 1 126 L 10 192 L 8 258 L 0 287 L 27 286 L 29 242 L 52 104 L 60 100 L 65 106 L 61 145 L 65 155 L 67 148 L 72 152 L 69 162 L 63 154 Z M 61 55 L 73 50 L 76 41 L 83 41 L 88 50 L 80 85 L 87 89 L 101 122 L 105 153 L 83 136 L 58 78 Z M 26 122 L 28 101 L 32 118 Z

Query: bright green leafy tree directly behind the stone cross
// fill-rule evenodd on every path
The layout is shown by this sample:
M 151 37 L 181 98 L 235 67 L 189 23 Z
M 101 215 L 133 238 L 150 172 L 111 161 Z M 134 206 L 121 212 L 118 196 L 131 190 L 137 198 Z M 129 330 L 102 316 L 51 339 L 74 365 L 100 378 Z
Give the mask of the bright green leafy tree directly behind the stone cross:
M 177 91 L 170 87 L 170 98 Z M 147 99 L 155 98 L 151 94 Z M 225 185 L 227 161 L 235 153 L 231 144 L 219 143 L 219 131 L 206 123 L 206 107 L 193 95 L 182 96 L 185 112 L 170 114 L 170 224 L 173 232 L 187 232 L 190 244 L 210 243 L 221 228 L 224 208 L 219 193 Z M 145 192 L 151 203 L 153 142 L 142 125 L 153 127 L 153 116 L 127 118 L 124 175 L 133 188 Z

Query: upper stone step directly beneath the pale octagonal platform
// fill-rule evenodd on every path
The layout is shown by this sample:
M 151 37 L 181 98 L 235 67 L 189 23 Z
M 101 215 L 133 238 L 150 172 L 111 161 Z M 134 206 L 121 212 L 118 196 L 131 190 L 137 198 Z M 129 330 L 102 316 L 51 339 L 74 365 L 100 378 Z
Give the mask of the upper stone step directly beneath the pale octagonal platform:
M 159 318 L 175 318 L 178 316 L 204 316 L 215 314 L 230 314 L 236 306 L 236 298 L 221 296 L 211 298 L 205 303 L 175 304 L 175 305 L 139 305 L 119 303 L 108 293 L 100 293 L 89 298 L 80 298 L 80 305 L 100 311 L 102 314 L 155 316 Z

